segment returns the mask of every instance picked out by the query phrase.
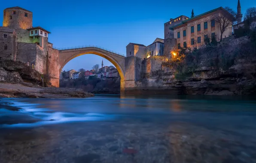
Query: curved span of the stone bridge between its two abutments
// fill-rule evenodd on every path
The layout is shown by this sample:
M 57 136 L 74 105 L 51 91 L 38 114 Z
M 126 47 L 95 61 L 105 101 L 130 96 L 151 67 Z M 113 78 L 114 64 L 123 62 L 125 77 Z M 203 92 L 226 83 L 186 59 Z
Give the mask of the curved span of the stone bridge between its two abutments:
M 125 79 L 125 57 L 101 48 L 86 47 L 59 51 L 59 73 L 63 67 L 73 58 L 84 54 L 95 54 L 109 60 L 116 67 L 121 77 L 121 82 Z

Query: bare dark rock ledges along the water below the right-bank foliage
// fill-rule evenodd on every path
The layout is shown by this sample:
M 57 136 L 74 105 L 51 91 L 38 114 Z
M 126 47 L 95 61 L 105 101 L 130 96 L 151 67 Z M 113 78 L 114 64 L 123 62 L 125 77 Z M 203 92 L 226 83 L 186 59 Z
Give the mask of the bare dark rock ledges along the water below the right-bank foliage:
M 137 89 L 128 94 L 201 94 L 250 95 L 256 94 L 256 63 L 237 64 L 228 71 L 210 67 L 198 69 L 183 80 L 175 79 L 175 70 L 163 66 L 136 82 Z M 247 72 L 247 73 L 244 73 Z

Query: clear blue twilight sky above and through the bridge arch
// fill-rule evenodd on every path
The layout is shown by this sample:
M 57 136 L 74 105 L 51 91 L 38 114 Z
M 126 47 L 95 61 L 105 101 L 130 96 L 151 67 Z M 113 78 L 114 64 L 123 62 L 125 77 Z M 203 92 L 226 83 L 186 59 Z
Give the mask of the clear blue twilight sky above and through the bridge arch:
M 1 3 L 4 1 L 4 3 Z M 240 0 L 242 13 L 256 6 L 256 0 Z M 64 48 L 98 45 L 122 54 L 129 42 L 151 44 L 164 38 L 164 23 L 180 15 L 191 16 L 229 6 L 236 10 L 238 0 L 0 0 L 0 10 L 19 6 L 33 12 L 33 26 L 49 30 L 49 42 Z M 3 16 L 0 16 L 3 21 Z M 86 54 L 70 60 L 64 70 L 91 69 L 102 57 Z M 108 60 L 104 65 L 112 65 Z

